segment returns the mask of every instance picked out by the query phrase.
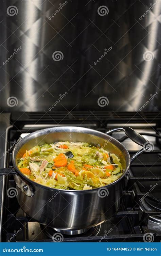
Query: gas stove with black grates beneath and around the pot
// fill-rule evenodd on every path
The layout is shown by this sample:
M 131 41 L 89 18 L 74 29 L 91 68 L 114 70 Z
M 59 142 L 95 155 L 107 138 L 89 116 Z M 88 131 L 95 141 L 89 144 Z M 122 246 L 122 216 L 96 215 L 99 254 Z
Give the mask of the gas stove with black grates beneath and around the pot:
M 5 116 L 5 115 L 4 115 Z M 8 118 L 8 117 L 7 117 Z M 132 163 L 126 178 L 120 209 L 105 223 L 81 234 L 62 234 L 64 242 L 143 242 L 151 234 L 153 242 L 161 240 L 161 124 L 155 113 L 58 112 L 14 113 L 6 128 L 4 166 L 12 167 L 12 150 L 20 138 L 29 133 L 53 126 L 81 126 L 102 132 L 114 127 L 130 126 L 140 132 L 151 147 Z M 141 146 L 127 139 L 123 132 L 113 133 L 128 149 L 130 156 Z M 7 190 L 15 188 L 13 175 L 2 178 L 1 188 L 1 241 L 52 242 L 59 230 L 41 225 L 27 216 L 19 207 L 16 196 Z

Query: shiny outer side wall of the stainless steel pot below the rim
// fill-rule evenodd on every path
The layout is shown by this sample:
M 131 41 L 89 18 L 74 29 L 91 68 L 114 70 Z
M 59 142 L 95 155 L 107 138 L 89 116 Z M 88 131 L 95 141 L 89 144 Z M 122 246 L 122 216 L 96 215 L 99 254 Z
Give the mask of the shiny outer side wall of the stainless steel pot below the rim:
M 15 181 L 16 176 L 15 176 Z M 124 179 L 100 190 L 50 191 L 34 185 L 32 197 L 18 187 L 18 203 L 30 217 L 39 223 L 57 229 L 79 230 L 96 226 L 117 212 Z

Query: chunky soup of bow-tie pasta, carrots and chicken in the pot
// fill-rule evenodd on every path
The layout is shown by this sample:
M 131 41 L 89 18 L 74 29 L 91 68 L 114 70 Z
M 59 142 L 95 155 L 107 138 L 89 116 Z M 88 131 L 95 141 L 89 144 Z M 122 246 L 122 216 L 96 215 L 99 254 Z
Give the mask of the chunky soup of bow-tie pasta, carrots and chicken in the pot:
M 56 142 L 26 151 L 19 170 L 31 180 L 50 188 L 89 190 L 117 180 L 123 173 L 119 158 L 99 145 Z

